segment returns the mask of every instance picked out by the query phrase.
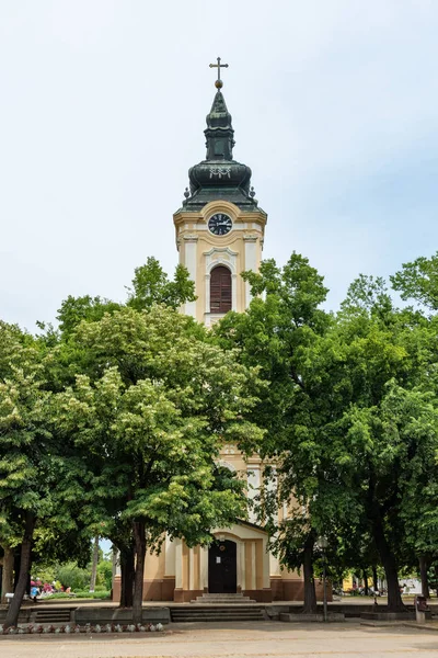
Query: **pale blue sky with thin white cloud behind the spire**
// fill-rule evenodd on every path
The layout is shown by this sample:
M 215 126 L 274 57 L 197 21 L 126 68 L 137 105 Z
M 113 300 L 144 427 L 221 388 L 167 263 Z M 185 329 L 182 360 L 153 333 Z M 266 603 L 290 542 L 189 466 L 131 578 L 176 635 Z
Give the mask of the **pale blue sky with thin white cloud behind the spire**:
M 335 309 L 431 256 L 437 34 L 436 0 L 0 0 L 0 319 L 173 272 L 218 56 L 265 258 L 308 257 Z

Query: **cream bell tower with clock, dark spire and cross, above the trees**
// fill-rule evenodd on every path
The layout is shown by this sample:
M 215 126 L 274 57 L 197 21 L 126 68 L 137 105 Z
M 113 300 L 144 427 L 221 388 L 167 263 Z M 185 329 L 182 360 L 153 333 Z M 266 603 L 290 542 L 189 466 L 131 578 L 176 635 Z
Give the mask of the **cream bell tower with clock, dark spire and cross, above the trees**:
M 189 189 L 173 215 L 180 263 L 197 295 L 182 310 L 207 327 L 229 310 L 249 306 L 251 291 L 241 273 L 258 270 L 267 220 L 254 197 L 251 169 L 233 160 L 234 131 L 220 79 L 220 69 L 228 65 L 218 57 L 210 67 L 217 67 L 218 78 L 204 131 L 206 159 L 189 169 Z

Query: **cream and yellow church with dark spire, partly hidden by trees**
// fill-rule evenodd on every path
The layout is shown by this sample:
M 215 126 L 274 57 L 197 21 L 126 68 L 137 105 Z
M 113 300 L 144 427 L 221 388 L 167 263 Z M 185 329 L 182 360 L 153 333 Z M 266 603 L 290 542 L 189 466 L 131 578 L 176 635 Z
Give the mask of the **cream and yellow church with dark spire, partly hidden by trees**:
M 220 58 L 216 65 L 216 95 L 207 114 L 206 159 L 188 171 L 189 189 L 173 215 L 180 263 L 196 284 L 197 299 L 182 311 L 211 327 L 229 310 L 242 313 L 251 291 L 241 273 L 256 271 L 262 260 L 267 214 L 251 186 L 251 169 L 233 159 L 234 131 L 222 94 Z M 220 464 L 247 478 L 250 496 L 261 485 L 257 455 L 244 458 L 235 445 L 223 445 Z M 280 518 L 285 510 L 279 510 Z M 214 531 L 209 547 L 189 548 L 183 540 L 166 538 L 160 555 L 147 555 L 143 599 L 188 602 L 205 593 L 243 593 L 252 600 L 302 600 L 303 581 L 281 570 L 268 551 L 268 535 L 255 523 L 237 521 Z M 120 578 L 113 595 L 119 597 Z

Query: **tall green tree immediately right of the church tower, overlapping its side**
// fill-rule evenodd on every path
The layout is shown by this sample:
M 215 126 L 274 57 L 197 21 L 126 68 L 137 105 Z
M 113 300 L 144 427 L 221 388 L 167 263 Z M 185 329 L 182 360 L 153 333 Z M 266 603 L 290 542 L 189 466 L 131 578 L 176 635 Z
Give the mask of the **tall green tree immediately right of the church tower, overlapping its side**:
M 319 497 L 327 465 L 318 436 L 332 413 L 315 365 L 321 361 L 321 338 L 332 322 L 320 308 L 327 290 L 308 259 L 297 253 L 283 269 L 265 261 L 258 274 L 243 276 L 252 294 L 265 298 L 255 297 L 245 314 L 228 314 L 216 328 L 216 338 L 222 347 L 238 347 L 242 362 L 257 365 L 269 383 L 254 412 L 267 430 L 261 454 L 276 464 L 276 487 L 270 495 L 263 494 L 262 517 L 276 537 L 273 546 L 283 564 L 303 565 L 304 611 L 315 612 L 312 563 L 315 541 L 327 526 Z M 324 496 L 327 500 L 327 490 Z M 333 499 L 339 500 L 337 495 Z M 278 524 L 284 503 L 289 518 Z

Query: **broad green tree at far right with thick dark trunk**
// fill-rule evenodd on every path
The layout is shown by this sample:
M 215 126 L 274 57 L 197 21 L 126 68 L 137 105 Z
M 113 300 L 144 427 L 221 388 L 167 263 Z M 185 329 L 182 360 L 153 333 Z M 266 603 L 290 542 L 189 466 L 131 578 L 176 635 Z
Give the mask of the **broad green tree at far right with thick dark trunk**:
M 333 333 L 338 382 L 349 393 L 342 417 L 328 426 L 331 456 L 383 565 L 389 609 L 403 611 L 397 572 L 415 527 L 414 521 L 406 523 L 407 508 L 414 496 L 417 518 L 426 519 L 430 504 L 430 498 L 415 494 L 413 464 L 435 487 L 435 411 L 418 389 L 431 385 L 425 377 L 428 334 L 415 314 L 393 307 L 384 282 L 366 277 L 350 287 Z

